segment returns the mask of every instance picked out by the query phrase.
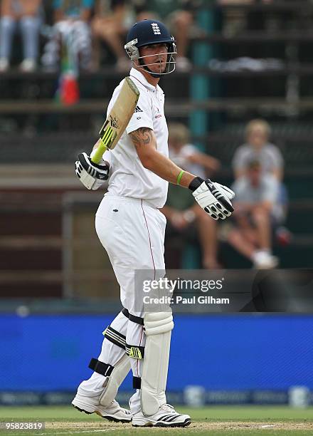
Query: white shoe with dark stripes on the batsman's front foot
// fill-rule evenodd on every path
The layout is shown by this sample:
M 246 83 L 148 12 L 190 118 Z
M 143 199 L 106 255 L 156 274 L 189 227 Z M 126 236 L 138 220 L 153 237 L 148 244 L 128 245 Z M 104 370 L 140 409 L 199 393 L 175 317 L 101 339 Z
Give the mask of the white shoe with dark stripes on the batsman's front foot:
M 169 404 L 162 405 L 154 415 L 144 416 L 138 412 L 132 417 L 134 427 L 186 427 L 190 423 L 189 415 L 177 413 Z

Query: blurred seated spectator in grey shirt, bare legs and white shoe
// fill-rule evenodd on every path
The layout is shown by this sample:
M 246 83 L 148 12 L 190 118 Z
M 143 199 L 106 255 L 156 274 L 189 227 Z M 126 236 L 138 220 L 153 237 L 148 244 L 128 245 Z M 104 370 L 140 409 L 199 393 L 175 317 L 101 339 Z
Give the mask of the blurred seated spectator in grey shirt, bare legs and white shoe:
M 228 233 L 228 242 L 250 259 L 255 269 L 275 268 L 278 259 L 272 256 L 271 234 L 281 213 L 277 204 L 279 182 L 262 173 L 260 161 L 251 160 L 245 175 L 231 189 L 235 192 L 235 227 Z

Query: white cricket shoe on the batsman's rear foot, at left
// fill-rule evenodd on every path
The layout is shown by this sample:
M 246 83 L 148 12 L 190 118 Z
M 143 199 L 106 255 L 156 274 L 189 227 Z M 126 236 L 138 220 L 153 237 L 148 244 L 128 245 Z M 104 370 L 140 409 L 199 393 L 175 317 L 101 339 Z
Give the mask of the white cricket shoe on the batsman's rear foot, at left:
M 108 406 L 103 406 L 99 403 L 99 397 L 85 397 L 84 395 L 76 394 L 72 401 L 73 406 L 80 412 L 97 413 L 97 415 L 114 422 L 131 422 L 132 413 L 130 410 L 121 408 L 117 401 L 112 401 Z

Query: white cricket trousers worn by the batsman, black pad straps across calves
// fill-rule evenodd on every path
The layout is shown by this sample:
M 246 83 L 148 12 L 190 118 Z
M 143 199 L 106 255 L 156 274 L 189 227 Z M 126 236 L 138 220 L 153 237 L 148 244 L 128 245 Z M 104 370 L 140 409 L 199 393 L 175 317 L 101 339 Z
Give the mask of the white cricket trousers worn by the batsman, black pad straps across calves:
M 111 197 L 105 195 L 97 209 L 95 228 L 100 242 L 110 257 L 115 276 L 120 284 L 122 306 L 130 314 L 143 317 L 143 305 L 135 299 L 134 271 L 151 270 L 152 279 L 158 278 L 156 271 L 165 270 L 164 234 L 166 218 L 159 209 L 142 199 Z M 139 307 L 140 306 L 140 307 Z M 126 336 L 128 346 L 144 346 L 144 328 L 130 321 L 120 312 L 110 324 L 111 328 Z M 104 338 L 98 360 L 114 366 L 124 355 L 123 348 Z M 134 377 L 142 375 L 142 359 L 131 358 Z M 102 392 L 105 376 L 93 373 L 83 381 L 78 393 L 96 396 Z M 140 390 L 129 400 L 132 413 L 141 409 Z

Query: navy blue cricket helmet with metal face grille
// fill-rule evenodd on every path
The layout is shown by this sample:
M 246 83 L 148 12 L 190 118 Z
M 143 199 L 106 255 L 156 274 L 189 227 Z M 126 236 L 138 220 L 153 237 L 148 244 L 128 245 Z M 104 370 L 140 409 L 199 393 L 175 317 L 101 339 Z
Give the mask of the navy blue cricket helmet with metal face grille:
M 148 71 L 154 77 L 160 77 L 162 74 L 169 74 L 175 70 L 174 55 L 177 53 L 175 42 L 174 36 L 169 33 L 169 30 L 161 21 L 142 20 L 129 29 L 124 48 L 132 61 L 137 59 L 139 65 L 144 68 L 144 70 Z M 145 56 L 140 56 L 139 48 L 159 43 L 166 43 L 168 48 L 166 69 L 164 72 L 152 73 L 147 64 L 144 63 Z

